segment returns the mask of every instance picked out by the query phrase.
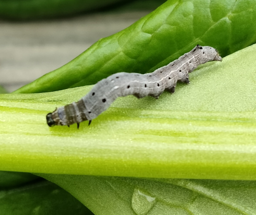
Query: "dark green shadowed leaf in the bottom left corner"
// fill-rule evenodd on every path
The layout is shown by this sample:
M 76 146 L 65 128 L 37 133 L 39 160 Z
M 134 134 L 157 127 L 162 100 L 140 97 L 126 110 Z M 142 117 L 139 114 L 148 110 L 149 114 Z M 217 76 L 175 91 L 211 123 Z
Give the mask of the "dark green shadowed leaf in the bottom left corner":
M 45 180 L 0 190 L 0 211 L 1 215 L 93 215 L 68 192 Z

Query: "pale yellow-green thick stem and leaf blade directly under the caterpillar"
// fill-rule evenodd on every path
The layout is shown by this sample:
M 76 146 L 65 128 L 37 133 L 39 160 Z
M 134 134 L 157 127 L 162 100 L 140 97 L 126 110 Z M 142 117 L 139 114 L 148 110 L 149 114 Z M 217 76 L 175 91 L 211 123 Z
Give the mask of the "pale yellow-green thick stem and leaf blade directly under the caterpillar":
M 3 94 L 1 170 L 156 178 L 256 177 L 256 45 L 202 65 L 158 100 L 118 98 L 88 127 L 45 116 L 91 87 Z M 54 164 L 54 165 L 53 165 Z

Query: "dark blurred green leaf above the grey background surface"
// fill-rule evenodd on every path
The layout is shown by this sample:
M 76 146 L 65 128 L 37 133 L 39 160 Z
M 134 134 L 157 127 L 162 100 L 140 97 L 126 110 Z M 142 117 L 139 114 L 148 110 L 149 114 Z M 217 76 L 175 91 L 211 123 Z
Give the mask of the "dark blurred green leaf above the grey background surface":
M 42 19 L 70 16 L 124 0 L 0 0 L 0 18 Z

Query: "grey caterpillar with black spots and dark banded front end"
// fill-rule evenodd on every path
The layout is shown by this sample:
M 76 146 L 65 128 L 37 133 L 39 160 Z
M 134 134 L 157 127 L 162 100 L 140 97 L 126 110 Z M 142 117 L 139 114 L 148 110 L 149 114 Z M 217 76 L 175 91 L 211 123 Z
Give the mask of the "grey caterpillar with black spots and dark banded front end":
M 56 108 L 46 115 L 47 124 L 69 125 L 85 120 L 89 125 L 103 111 L 107 110 L 119 96 L 134 95 L 137 98 L 152 96 L 156 99 L 164 90 L 174 93 L 177 81 L 189 83 L 189 73 L 208 61 L 221 61 L 218 51 L 210 46 L 194 47 L 177 60 L 151 73 L 119 72 L 102 79 L 78 102 Z

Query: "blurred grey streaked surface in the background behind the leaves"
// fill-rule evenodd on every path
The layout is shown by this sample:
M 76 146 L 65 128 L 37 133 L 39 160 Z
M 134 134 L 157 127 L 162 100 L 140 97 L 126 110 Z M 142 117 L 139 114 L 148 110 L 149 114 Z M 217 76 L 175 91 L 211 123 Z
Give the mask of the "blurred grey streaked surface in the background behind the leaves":
M 0 85 L 12 92 L 148 13 L 102 13 L 25 23 L 0 21 Z

